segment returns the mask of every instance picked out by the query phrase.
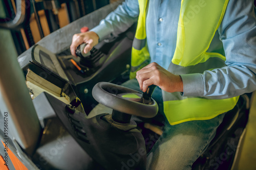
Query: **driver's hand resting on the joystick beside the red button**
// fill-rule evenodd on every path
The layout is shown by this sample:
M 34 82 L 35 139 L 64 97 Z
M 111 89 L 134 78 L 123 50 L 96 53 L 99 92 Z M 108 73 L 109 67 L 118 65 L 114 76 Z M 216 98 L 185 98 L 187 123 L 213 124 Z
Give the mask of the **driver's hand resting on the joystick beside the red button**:
M 83 53 L 88 53 L 92 50 L 93 46 L 97 45 L 99 42 L 99 36 L 93 32 L 85 32 L 73 35 L 72 43 L 70 45 L 71 54 L 76 56 L 76 48 L 78 45 L 82 43 L 87 43 L 86 47 L 84 47 Z

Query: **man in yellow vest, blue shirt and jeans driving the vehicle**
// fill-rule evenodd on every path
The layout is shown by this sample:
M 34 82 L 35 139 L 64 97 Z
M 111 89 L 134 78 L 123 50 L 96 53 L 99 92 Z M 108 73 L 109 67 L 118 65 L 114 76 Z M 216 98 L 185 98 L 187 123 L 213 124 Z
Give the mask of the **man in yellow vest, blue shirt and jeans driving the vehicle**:
M 74 35 L 72 55 L 79 44 L 88 43 L 87 53 L 136 21 L 131 80 L 124 86 L 145 91 L 157 85 L 153 98 L 168 120 L 147 168 L 190 169 L 224 113 L 256 89 L 253 1 L 127 0 L 91 32 Z

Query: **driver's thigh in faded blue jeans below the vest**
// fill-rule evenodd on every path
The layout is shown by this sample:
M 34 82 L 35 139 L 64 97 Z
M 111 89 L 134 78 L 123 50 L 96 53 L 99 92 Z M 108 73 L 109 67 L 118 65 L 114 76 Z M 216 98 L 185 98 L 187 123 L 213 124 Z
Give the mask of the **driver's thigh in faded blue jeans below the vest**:
M 147 169 L 191 169 L 214 138 L 223 117 L 166 125 L 147 155 Z

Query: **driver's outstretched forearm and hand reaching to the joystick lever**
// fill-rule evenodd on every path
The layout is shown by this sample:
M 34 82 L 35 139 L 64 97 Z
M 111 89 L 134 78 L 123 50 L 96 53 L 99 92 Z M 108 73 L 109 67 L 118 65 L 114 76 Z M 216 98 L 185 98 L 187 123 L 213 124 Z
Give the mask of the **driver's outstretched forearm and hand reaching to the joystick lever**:
M 139 15 L 139 5 L 137 0 L 127 0 L 118 8 L 111 12 L 105 19 L 101 20 L 99 26 L 93 28 L 90 32 L 75 34 L 72 38 L 70 51 L 76 56 L 75 51 L 81 43 L 87 43 L 84 53 L 89 52 L 100 40 L 117 36 L 126 31 L 137 20 Z

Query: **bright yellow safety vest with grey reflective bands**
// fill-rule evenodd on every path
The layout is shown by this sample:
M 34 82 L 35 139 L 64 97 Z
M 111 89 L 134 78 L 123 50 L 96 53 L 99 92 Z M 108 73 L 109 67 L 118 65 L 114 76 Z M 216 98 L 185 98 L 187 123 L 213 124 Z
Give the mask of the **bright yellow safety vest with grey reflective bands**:
M 150 63 L 146 48 L 146 8 L 147 0 L 138 0 L 140 14 L 132 47 L 130 78 Z M 177 30 L 177 44 L 168 71 L 173 74 L 203 73 L 205 70 L 222 67 L 226 58 L 220 53 L 207 52 L 226 11 L 228 0 L 182 0 Z M 197 7 L 197 13 L 193 8 Z M 184 97 L 180 92 L 163 91 L 164 113 L 170 125 L 190 120 L 206 120 L 231 110 L 239 96 L 214 100 Z

